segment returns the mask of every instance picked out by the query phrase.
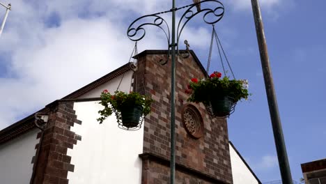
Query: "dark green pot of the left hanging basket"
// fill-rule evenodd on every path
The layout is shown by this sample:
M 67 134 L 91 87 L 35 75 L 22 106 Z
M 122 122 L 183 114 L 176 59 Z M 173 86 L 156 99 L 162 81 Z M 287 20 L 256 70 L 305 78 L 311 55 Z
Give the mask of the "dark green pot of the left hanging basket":
M 122 125 L 126 128 L 135 128 L 139 125 L 143 107 L 129 106 L 121 109 Z

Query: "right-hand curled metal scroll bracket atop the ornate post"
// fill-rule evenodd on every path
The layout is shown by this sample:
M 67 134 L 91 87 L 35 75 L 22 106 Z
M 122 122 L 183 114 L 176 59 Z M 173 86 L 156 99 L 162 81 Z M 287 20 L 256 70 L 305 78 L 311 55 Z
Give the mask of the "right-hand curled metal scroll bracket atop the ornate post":
M 204 8 L 200 11 L 197 11 L 197 8 L 195 7 L 198 4 L 202 3 L 208 3 L 208 2 L 215 2 L 217 3 L 216 8 Z M 202 6 L 201 6 L 202 7 Z M 194 13 L 196 12 L 196 13 Z M 199 13 L 205 12 L 203 15 L 203 20 L 206 24 L 215 24 L 216 22 L 219 22 L 219 20 L 222 19 L 224 15 L 224 5 L 217 0 L 205 0 L 201 1 L 199 3 L 194 3 L 189 6 L 189 8 L 183 13 L 181 16 L 179 23 L 178 23 L 178 29 L 177 29 L 177 45 L 179 44 L 179 39 L 181 36 L 181 33 L 183 33 L 183 28 L 185 28 L 185 25 L 189 22 L 189 20 L 192 19 L 192 17 L 198 15 Z M 208 20 L 209 17 L 212 17 L 212 20 Z M 185 54 L 180 54 L 179 47 L 177 47 L 177 54 L 182 56 L 183 58 L 189 57 L 189 52 L 186 52 Z

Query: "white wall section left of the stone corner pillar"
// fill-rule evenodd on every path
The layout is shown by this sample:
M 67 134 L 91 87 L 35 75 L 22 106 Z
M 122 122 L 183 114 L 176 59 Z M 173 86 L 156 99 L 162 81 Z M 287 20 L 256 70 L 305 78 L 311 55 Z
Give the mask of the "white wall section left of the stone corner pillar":
M 35 146 L 40 139 L 37 128 L 0 146 L 0 183 L 26 184 L 31 180 L 36 154 Z

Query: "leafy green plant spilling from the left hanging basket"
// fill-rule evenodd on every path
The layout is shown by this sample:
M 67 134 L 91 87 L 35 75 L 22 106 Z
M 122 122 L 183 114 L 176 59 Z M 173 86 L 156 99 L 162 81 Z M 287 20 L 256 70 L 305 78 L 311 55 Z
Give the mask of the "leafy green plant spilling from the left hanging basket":
M 133 106 L 140 106 L 143 107 L 142 109 L 142 116 L 146 116 L 150 113 L 150 104 L 153 100 L 147 95 L 141 95 L 137 92 L 130 92 L 129 94 L 124 93 L 122 91 L 114 92 L 114 95 L 108 93 L 107 90 L 104 90 L 101 94 L 101 101 L 99 102 L 100 105 L 104 106 L 104 109 L 98 111 L 100 114 L 100 118 L 97 120 L 100 123 L 111 116 L 114 112 L 116 114 L 116 119 L 118 123 L 121 122 L 121 109 L 125 107 L 133 107 Z

